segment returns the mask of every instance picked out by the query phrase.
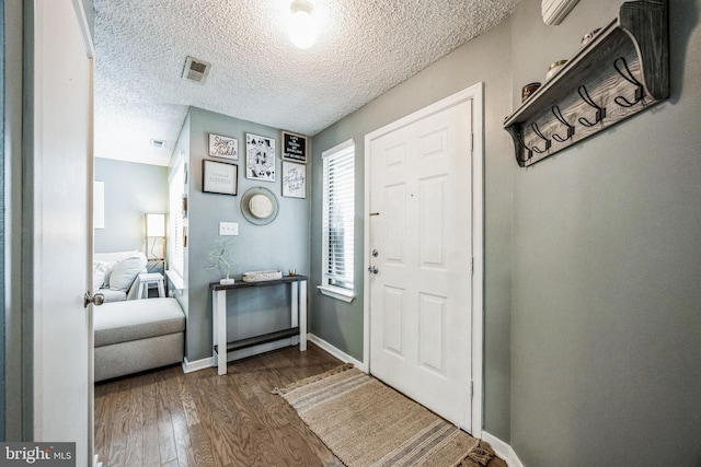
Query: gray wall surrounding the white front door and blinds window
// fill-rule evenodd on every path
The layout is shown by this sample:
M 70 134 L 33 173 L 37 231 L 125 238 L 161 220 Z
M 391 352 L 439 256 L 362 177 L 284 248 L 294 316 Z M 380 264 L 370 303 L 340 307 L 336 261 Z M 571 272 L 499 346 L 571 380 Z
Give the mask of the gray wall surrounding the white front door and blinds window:
M 510 137 L 502 121 L 512 110 L 510 27 L 503 23 L 353 115 L 314 137 L 311 257 L 321 258 L 321 153 L 349 138 L 356 143 L 357 299 L 346 304 L 312 291 L 310 330 L 354 358 L 363 359 L 363 258 L 365 135 L 478 82 L 485 83 L 485 417 L 490 432 L 509 439 L 510 222 L 512 177 L 516 173 Z M 312 261 L 312 284 L 321 281 Z

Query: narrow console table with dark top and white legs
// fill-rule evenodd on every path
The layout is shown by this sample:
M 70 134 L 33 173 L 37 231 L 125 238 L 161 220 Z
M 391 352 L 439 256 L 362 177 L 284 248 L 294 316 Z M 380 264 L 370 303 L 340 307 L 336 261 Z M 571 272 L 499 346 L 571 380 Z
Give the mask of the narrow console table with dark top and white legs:
M 290 285 L 291 292 L 290 327 L 276 332 L 229 342 L 227 339 L 227 292 L 235 292 L 237 290 L 252 287 L 271 287 L 286 283 Z M 299 335 L 299 351 L 307 350 L 307 277 L 285 276 L 281 279 L 260 282 L 240 281 L 227 285 L 212 282 L 209 284 L 209 289 L 211 289 L 212 357 L 217 364 L 218 374 L 227 374 L 227 354 L 233 350 L 273 342 L 297 335 Z M 220 351 L 221 347 L 223 349 Z

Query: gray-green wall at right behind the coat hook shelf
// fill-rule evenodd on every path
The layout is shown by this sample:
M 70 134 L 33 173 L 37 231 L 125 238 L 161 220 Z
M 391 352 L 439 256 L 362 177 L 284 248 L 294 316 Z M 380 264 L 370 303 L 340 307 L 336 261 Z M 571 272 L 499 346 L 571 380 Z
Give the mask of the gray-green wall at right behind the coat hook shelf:
M 514 105 L 619 5 L 549 27 L 519 3 Z M 510 444 L 527 466 L 701 465 L 700 5 L 670 2 L 669 101 L 514 178 Z

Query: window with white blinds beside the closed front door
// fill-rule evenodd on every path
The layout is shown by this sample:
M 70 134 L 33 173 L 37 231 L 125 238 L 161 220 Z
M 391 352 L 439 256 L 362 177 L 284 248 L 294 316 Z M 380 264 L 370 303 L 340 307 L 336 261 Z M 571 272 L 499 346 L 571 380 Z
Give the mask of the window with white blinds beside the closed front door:
M 355 144 L 346 141 L 322 153 L 322 284 L 325 295 L 354 297 Z

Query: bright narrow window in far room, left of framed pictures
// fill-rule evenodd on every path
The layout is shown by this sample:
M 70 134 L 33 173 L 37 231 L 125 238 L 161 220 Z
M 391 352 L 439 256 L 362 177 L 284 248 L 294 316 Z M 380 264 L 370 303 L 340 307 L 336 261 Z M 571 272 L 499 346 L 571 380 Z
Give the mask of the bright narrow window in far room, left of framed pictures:
M 185 171 L 184 157 L 181 156 L 173 166 L 169 180 L 169 269 L 177 272 L 181 278 L 184 277 L 185 269 Z

